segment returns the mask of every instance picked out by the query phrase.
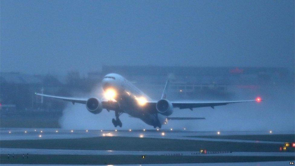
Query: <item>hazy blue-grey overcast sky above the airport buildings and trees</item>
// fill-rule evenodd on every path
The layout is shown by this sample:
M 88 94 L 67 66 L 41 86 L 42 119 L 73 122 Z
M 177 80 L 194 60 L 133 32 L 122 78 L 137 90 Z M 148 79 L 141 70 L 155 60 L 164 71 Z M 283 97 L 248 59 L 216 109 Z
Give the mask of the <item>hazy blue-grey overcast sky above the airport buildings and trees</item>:
M 1 71 L 294 69 L 294 1 L 1 0 Z

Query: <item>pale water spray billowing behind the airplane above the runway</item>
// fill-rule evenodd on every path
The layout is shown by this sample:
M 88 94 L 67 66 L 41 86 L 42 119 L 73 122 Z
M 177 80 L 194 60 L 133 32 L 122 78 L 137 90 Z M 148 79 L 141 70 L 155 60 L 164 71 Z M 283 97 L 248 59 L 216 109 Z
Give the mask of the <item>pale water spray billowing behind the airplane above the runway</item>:
M 91 95 L 76 95 L 103 98 L 101 95 L 102 88 L 99 86 L 97 85 L 97 88 L 92 91 Z M 256 90 L 251 93 L 243 90 L 238 91 L 234 95 L 234 100 L 255 99 L 258 95 L 257 93 Z M 174 109 L 170 117 L 204 117 L 206 120 L 170 120 L 167 125 L 162 125 L 162 129 L 173 128 L 182 130 L 186 128 L 189 131 L 267 132 L 271 130 L 274 133 L 294 132 L 294 86 L 263 86 L 260 88 L 259 93 L 263 99 L 260 103 L 234 103 L 226 106 L 216 106 L 215 109 L 210 107 L 195 108 L 193 111 L 189 109 Z M 158 93 L 151 94 L 150 92 L 148 94 L 150 96 L 160 96 L 160 90 L 158 90 Z M 154 98 L 154 100 L 158 99 Z M 185 101 L 169 95 L 167 99 L 170 99 L 170 101 Z M 198 101 L 203 100 L 199 99 Z M 101 113 L 94 115 L 83 104 L 77 103 L 73 105 L 69 103 L 63 110 L 60 125 L 64 129 L 83 130 L 154 129 L 153 126 L 145 124 L 140 119 L 132 118 L 126 113 L 120 116 L 123 123 L 122 128 L 115 128 L 112 124 L 112 118 L 115 118 L 114 111 L 108 112 L 103 109 Z

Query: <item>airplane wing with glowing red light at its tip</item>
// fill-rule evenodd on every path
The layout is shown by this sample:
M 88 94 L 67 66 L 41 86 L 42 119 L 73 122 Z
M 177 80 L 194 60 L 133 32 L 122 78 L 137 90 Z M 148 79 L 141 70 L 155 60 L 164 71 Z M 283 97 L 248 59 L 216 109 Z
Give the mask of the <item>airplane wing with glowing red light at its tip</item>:
M 211 107 L 214 109 L 215 106 L 224 106 L 231 103 L 244 103 L 244 102 L 260 102 L 261 99 L 256 100 L 242 100 L 242 101 L 223 101 L 223 102 L 172 102 L 174 108 L 179 109 L 190 109 L 199 107 Z

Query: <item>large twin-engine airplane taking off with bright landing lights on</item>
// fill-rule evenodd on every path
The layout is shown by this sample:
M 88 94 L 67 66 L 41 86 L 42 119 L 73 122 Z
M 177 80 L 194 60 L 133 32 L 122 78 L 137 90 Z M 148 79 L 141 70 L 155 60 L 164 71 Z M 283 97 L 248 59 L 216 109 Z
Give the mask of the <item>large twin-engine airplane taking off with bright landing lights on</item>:
M 102 109 L 115 111 L 115 118 L 112 123 L 115 127 L 122 127 L 122 122 L 119 116 L 123 113 L 129 114 L 131 117 L 139 118 L 148 125 L 154 128 L 161 128 L 162 125 L 167 124 L 168 120 L 192 120 L 192 119 L 205 119 L 205 118 L 185 118 L 185 117 L 169 117 L 173 113 L 174 108 L 190 109 L 199 107 L 223 106 L 231 103 L 243 102 L 261 102 L 260 97 L 255 100 L 243 101 L 221 101 L 221 102 L 171 102 L 166 99 L 166 91 L 169 80 L 167 80 L 161 99 L 154 101 L 145 95 L 141 90 L 135 87 L 131 82 L 126 80 L 123 76 L 115 73 L 110 73 L 102 79 L 102 89 L 104 91 L 105 99 L 98 99 L 91 97 L 88 99 L 79 99 L 73 97 L 51 96 L 41 93 L 36 95 L 51 97 L 70 101 L 73 104 L 82 103 L 86 105 L 86 109 L 93 113 L 99 114 Z

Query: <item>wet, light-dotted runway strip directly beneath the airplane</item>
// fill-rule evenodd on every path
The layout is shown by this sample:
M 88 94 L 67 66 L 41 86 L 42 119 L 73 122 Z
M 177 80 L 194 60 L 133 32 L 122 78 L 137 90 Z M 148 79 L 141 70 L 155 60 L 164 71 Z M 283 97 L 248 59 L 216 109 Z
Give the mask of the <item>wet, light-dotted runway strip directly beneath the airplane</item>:
M 273 141 L 255 141 L 242 139 L 220 139 L 220 138 L 198 138 L 190 136 L 210 136 L 210 135 L 271 135 L 269 131 L 264 132 L 193 132 L 185 130 L 65 130 L 65 129 L 25 129 L 1 128 L 1 140 L 34 140 L 34 139 L 65 139 L 65 138 L 89 138 L 89 137 L 137 137 L 137 138 L 167 138 L 167 139 L 184 139 L 199 141 L 217 141 L 217 142 L 247 142 L 247 143 L 267 143 L 267 144 L 284 144 L 284 142 Z M 276 133 L 276 134 L 293 134 L 293 133 Z

